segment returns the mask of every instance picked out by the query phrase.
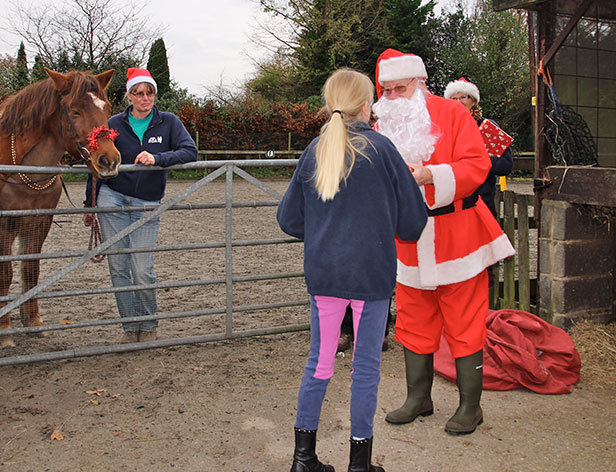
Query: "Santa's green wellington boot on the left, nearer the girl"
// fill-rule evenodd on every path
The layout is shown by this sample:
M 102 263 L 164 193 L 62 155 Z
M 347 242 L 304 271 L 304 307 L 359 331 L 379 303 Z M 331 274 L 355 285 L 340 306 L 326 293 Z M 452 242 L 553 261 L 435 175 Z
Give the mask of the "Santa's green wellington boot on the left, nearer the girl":
M 415 354 L 404 348 L 404 365 L 406 401 L 401 408 L 390 411 L 385 416 L 385 421 L 393 424 L 410 423 L 419 415 L 429 416 L 434 413 L 430 396 L 434 378 L 434 354 Z

